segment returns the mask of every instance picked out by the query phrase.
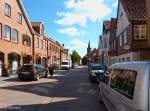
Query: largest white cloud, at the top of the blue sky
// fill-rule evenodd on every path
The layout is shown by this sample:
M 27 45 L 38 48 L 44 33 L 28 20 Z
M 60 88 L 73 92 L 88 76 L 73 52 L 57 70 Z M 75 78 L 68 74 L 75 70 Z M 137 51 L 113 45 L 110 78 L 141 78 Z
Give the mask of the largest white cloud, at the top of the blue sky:
M 65 7 L 69 11 L 57 12 L 61 19 L 55 20 L 55 23 L 63 26 L 79 24 L 86 27 L 88 20 L 96 22 L 112 12 L 104 0 L 67 0 Z

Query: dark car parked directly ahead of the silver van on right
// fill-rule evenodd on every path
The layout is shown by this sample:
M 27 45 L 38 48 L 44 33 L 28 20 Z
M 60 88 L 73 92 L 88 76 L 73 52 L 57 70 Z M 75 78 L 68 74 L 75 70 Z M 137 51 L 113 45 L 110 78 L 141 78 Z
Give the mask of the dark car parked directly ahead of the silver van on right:
M 107 67 L 100 64 L 93 64 L 89 71 L 89 78 L 91 82 L 99 82 L 100 79 L 104 76 Z

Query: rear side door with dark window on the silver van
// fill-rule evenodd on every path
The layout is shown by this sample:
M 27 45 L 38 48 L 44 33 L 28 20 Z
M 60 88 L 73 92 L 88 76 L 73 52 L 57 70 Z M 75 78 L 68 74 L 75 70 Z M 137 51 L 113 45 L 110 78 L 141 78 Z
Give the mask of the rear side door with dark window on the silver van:
M 136 111 L 133 95 L 137 72 L 127 69 L 114 69 L 110 83 L 112 111 Z

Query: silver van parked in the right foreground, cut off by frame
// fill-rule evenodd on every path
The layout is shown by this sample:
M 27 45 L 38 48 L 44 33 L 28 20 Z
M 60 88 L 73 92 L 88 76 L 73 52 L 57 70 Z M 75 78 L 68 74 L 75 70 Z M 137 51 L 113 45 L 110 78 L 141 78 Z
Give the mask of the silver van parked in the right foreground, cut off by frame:
M 112 65 L 99 83 L 99 100 L 109 111 L 150 111 L 150 62 Z

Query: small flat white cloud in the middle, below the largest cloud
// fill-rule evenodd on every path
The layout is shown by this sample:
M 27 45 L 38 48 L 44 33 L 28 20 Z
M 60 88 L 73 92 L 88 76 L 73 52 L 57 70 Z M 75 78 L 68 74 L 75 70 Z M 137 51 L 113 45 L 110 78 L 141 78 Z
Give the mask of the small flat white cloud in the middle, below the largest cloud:
M 64 28 L 64 29 L 59 29 L 58 32 L 61 33 L 61 34 L 68 35 L 70 37 L 75 37 L 75 36 L 79 36 L 79 35 L 84 35 L 85 34 L 84 30 L 79 31 L 75 27 L 68 27 L 68 28 Z

